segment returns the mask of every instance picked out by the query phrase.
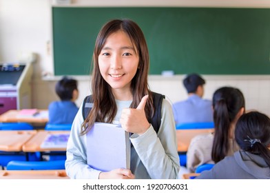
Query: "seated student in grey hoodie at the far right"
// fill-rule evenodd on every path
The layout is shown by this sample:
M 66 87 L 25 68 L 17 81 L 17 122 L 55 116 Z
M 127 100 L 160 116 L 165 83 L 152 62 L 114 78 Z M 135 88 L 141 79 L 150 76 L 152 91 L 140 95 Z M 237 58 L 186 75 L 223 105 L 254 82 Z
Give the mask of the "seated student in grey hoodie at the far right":
M 196 179 L 270 179 L 270 119 L 248 112 L 236 123 L 239 151 L 216 163 Z

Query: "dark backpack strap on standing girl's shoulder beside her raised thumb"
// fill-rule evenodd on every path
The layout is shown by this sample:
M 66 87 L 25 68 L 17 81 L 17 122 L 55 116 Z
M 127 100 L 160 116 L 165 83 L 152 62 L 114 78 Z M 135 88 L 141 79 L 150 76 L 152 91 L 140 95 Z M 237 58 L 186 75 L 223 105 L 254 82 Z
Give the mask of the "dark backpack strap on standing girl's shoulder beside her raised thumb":
M 152 96 L 153 96 L 153 103 L 154 103 L 154 107 L 155 107 L 155 112 L 154 112 L 154 116 L 150 120 L 150 123 L 152 124 L 156 133 L 158 133 L 158 130 L 159 130 L 160 124 L 161 124 L 162 102 L 163 102 L 163 99 L 165 99 L 165 95 L 159 94 L 156 92 L 152 92 Z

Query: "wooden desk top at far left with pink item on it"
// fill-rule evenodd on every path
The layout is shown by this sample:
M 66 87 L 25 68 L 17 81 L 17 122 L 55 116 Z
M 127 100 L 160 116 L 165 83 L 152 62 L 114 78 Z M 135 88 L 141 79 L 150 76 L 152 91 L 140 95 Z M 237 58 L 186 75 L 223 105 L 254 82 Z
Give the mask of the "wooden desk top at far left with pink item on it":
M 34 116 L 20 116 L 20 110 L 8 110 L 0 115 L 0 122 L 47 123 L 48 110 L 39 110 Z

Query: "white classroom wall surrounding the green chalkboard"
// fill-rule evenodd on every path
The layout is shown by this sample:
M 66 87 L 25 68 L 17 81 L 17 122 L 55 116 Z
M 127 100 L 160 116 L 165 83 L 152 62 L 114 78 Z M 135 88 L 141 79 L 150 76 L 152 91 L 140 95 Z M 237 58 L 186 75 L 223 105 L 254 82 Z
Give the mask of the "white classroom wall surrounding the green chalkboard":
M 42 74 L 53 73 L 52 24 L 50 0 L 0 0 L 0 61 L 18 61 L 21 55 L 35 52 L 32 79 L 32 108 L 48 108 L 50 101 L 57 100 L 54 92 L 56 79 Z M 55 5 L 54 5 L 55 6 Z M 72 6 L 197 6 L 197 7 L 253 7 L 270 8 L 268 0 L 73 0 Z M 75 67 L 74 67 L 75 68 Z M 245 94 L 248 109 L 257 109 L 270 114 L 269 76 L 215 76 L 204 75 L 205 98 L 211 99 L 214 91 L 223 86 L 236 86 Z M 59 78 L 59 77 L 58 77 Z M 79 79 L 80 105 L 90 93 L 90 77 Z M 1 79 L 1 77 L 0 77 Z M 175 77 L 149 76 L 153 91 L 163 93 L 172 102 L 185 99 L 187 93 L 182 84 L 183 75 Z

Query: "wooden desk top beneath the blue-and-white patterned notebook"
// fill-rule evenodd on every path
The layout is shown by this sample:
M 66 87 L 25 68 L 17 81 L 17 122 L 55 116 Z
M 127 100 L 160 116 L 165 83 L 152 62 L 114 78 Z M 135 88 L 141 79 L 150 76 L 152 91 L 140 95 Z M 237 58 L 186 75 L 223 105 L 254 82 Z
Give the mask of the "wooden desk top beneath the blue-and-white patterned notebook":
M 23 145 L 23 152 L 52 152 L 65 151 L 66 148 L 41 148 L 41 143 L 49 134 L 70 134 L 70 131 L 45 131 L 39 130 L 27 143 Z

